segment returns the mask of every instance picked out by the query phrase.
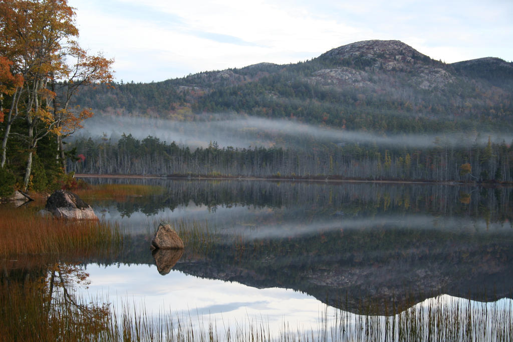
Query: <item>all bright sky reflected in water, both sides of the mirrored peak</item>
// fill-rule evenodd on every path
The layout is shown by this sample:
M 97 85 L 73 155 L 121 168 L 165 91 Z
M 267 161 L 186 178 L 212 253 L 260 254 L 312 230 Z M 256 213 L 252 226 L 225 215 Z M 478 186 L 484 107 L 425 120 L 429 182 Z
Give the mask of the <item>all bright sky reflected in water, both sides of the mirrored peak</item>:
M 91 284 L 88 289 L 80 288 L 79 295 L 107 299 L 118 315 L 123 311 L 122 308 L 127 306 L 137 308 L 140 313 L 145 311 L 154 324 L 159 324 L 159 317 L 171 315 L 173 319 L 179 318 L 182 324 L 186 323 L 194 329 L 205 329 L 209 324 L 213 324 L 221 333 L 227 327 L 235 330 L 252 325 L 258 328 L 263 326 L 266 331 L 270 331 L 271 336 L 276 336 L 283 331 L 284 324 L 288 324 L 292 331 L 313 331 L 316 335 L 322 317 L 329 331 L 327 340 L 338 340 L 337 334 L 340 333 L 337 319 L 340 319 L 342 311 L 328 307 L 312 296 L 292 290 L 257 289 L 235 282 L 204 279 L 176 270 L 162 276 L 153 265 L 104 267 L 90 264 L 87 266 L 87 272 L 90 274 Z M 446 312 L 457 308 L 462 314 L 460 323 L 464 326 L 468 305 L 473 310 L 472 314 L 478 318 L 490 317 L 484 318 L 480 323 L 490 334 L 495 323 L 487 319 L 494 317 L 492 312 L 499 312 L 506 321 L 513 318 L 510 310 L 513 300 L 508 298 L 481 303 L 441 295 L 428 298 L 408 311 L 416 311 L 417 315 L 418 312 L 423 312 L 427 315 L 430 309 L 436 307 L 443 307 Z M 483 312 L 486 315 L 483 315 Z M 350 329 L 356 331 L 359 329 L 357 321 L 365 320 L 364 316 L 352 313 L 345 312 L 344 315 L 352 327 Z M 381 321 L 382 325 L 387 319 L 383 316 L 373 317 Z M 334 338 L 331 339 L 331 336 Z

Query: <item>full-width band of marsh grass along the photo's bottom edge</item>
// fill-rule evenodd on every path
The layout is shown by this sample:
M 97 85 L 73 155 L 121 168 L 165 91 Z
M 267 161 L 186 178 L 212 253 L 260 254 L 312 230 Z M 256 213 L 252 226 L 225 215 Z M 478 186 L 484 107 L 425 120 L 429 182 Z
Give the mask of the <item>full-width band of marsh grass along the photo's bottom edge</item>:
M 324 306 L 318 324 L 284 320 L 273 330 L 265 318 L 237 321 L 172 312 L 150 315 L 125 301 L 119 309 L 105 298 L 62 295 L 49 299 L 45 278 L 2 281 L 0 331 L 5 341 L 510 341 L 511 300 L 485 303 L 440 295 L 400 313 L 353 314 Z M 48 280 L 48 278 L 46 278 Z M 54 305 L 51 305 L 53 303 Z M 58 304 L 58 305 L 57 305 Z

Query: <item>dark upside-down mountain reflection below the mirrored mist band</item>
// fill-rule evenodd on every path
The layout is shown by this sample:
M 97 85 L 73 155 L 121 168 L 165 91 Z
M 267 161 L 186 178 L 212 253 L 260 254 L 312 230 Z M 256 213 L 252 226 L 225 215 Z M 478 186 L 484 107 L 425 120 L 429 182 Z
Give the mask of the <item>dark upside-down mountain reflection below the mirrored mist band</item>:
M 399 309 L 439 293 L 486 301 L 511 297 L 510 237 L 415 229 L 321 232 L 218 244 L 205 254 L 186 248 L 174 269 L 258 288 L 291 288 L 352 312 L 371 305 L 383 314 L 392 299 Z M 144 239 L 136 237 L 123 255 L 103 262 L 154 263 Z

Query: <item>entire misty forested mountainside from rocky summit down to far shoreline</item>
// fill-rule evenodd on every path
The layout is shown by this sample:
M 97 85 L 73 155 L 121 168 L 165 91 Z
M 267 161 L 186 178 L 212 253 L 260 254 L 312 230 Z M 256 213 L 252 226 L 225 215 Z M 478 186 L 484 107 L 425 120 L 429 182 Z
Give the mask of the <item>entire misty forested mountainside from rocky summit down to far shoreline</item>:
M 502 59 L 445 64 L 399 41 L 358 42 L 303 63 L 84 91 L 77 101 L 100 113 L 97 126 L 117 122 L 118 137 L 126 134 L 83 136 L 70 145 L 83 159 L 70 167 L 509 182 L 512 99 L 513 64 Z M 139 117 L 139 126 L 127 125 L 127 117 Z M 152 118 L 172 120 L 166 124 L 171 133 L 159 139 L 166 122 Z M 146 135 L 137 127 L 146 127 Z M 214 131 L 219 134 L 210 135 Z M 204 145 L 183 143 L 187 136 L 196 137 L 189 142 L 203 138 Z

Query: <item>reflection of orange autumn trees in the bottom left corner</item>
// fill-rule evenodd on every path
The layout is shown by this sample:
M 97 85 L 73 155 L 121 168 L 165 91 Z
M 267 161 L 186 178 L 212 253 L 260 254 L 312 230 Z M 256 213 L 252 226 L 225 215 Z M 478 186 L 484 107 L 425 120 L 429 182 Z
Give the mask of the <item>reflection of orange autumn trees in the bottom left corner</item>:
M 62 340 L 65 336 L 66 340 L 95 340 L 107 331 L 109 305 L 87 302 L 75 295 L 77 286 L 88 284 L 82 266 L 58 261 L 29 264 L 29 268 L 15 265 L 18 268 L 11 269 L 5 265 L 0 277 L 0 327 L 4 338 Z

